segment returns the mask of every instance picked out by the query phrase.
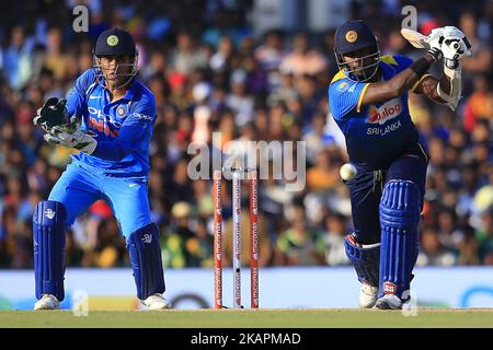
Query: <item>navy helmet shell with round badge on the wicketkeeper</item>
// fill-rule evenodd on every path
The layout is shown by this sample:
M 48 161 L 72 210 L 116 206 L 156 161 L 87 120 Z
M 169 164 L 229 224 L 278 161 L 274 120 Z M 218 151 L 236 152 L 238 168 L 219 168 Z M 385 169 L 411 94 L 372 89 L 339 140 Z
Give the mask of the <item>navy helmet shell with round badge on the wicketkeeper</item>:
M 134 38 L 130 33 L 119 28 L 111 28 L 104 31 L 98 37 L 94 49 L 95 56 L 112 56 L 112 55 L 137 55 Z

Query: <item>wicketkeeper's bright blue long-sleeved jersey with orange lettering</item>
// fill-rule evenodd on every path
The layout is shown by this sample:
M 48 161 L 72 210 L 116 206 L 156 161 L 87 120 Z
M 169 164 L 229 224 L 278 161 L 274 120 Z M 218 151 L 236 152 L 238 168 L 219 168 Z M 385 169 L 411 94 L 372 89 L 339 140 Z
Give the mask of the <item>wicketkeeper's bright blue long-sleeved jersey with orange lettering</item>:
M 111 176 L 149 174 L 156 101 L 137 79 L 129 83 L 123 98 L 111 102 L 108 91 L 98 82 L 94 71 L 87 70 L 67 97 L 67 110 L 69 116 L 76 115 L 81 129 L 94 135 L 98 141 L 92 154 L 73 154 L 73 162 L 89 164 Z

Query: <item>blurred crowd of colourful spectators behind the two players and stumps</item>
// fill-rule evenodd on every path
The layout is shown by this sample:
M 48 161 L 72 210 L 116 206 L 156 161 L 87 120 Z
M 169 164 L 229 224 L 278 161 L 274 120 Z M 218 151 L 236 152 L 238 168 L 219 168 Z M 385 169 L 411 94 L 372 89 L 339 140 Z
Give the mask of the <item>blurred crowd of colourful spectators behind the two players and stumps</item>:
M 77 4 L 89 9 L 88 33 L 72 30 Z M 417 266 L 493 265 L 493 1 L 448 1 L 445 9 L 443 1 L 393 0 L 18 1 L 0 13 L 0 284 L 10 283 L 9 273 L 33 269 L 32 212 L 69 161 L 68 150 L 43 142 L 32 118 L 47 97 L 65 96 L 91 68 L 92 45 L 110 26 L 136 38 L 139 78 L 158 105 L 149 196 L 165 273 L 203 268 L 213 276 L 210 182 L 191 180 L 186 172 L 187 145 L 210 144 L 211 131 L 221 131 L 222 142 L 307 141 L 303 191 L 285 192 L 284 184 L 272 179 L 261 183 L 264 271 L 347 266 L 343 237 L 352 229 L 351 211 L 339 176 L 346 155 L 326 96 L 337 71 L 333 33 L 348 18 L 364 19 L 382 54 L 417 57 L 399 33 L 405 4 L 416 7 L 422 33 L 456 25 L 473 47 L 462 65 L 457 113 L 411 95 L 413 119 L 431 153 Z M 231 202 L 228 192 L 223 201 Z M 230 212 L 226 207 L 228 232 Z M 227 236 L 227 256 L 230 247 Z M 245 242 L 245 265 L 246 249 Z M 104 202 L 69 230 L 67 266 L 129 267 Z M 485 267 L 478 271 L 491 275 Z M 493 294 L 493 281 L 486 287 Z M 261 300 L 264 291 L 261 270 Z

